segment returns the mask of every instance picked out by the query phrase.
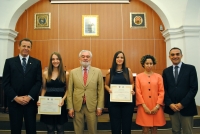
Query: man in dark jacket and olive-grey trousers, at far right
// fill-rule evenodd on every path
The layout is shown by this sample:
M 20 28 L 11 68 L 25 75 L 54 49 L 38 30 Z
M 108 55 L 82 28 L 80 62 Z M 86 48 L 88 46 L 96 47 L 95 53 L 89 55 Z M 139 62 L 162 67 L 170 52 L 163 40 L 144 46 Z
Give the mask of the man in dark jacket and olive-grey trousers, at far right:
M 181 62 L 181 49 L 174 47 L 169 51 L 173 65 L 163 71 L 165 88 L 165 113 L 169 114 L 172 133 L 193 134 L 193 116 L 197 115 L 195 96 L 198 91 L 196 69 Z

